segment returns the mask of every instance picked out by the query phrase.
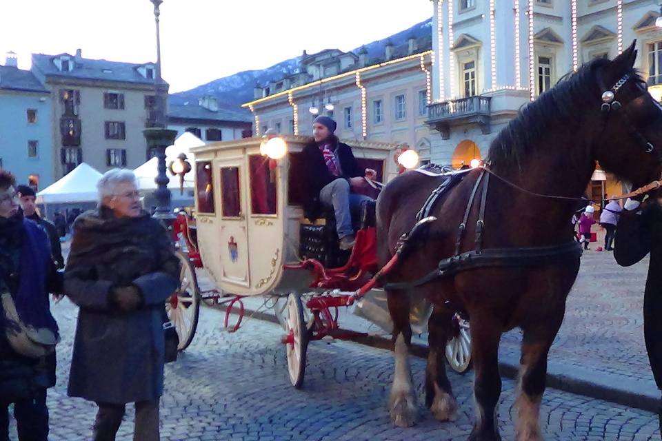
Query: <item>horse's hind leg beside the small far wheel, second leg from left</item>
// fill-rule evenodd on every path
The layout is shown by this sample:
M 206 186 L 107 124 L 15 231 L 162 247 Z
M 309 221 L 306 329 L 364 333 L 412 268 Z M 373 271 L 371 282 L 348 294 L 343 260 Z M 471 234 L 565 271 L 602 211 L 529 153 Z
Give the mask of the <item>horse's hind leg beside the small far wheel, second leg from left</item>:
M 428 320 L 428 365 L 425 367 L 425 405 L 439 421 L 457 419 L 457 401 L 446 376 L 445 347 L 452 336 L 454 311 L 435 306 Z

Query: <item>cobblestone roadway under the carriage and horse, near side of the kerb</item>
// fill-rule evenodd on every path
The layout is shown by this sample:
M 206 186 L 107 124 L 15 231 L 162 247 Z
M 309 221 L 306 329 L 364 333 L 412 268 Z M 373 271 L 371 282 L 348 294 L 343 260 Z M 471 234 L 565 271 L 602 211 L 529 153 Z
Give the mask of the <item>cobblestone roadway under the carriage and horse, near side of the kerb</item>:
M 49 391 L 52 441 L 87 440 L 95 407 L 66 396 L 77 309 L 54 306 L 61 325 L 58 383 Z M 419 423 L 394 428 L 385 401 L 392 353 L 351 342 L 312 342 L 303 389 L 290 386 L 281 328 L 248 320 L 237 334 L 219 331 L 221 314 L 201 310 L 192 345 L 167 365 L 161 404 L 163 440 L 463 440 L 471 428 L 472 373 L 451 374 L 461 405 L 456 422 L 421 409 Z M 412 358 L 419 394 L 424 361 Z M 514 382 L 504 380 L 499 424 L 512 439 Z M 420 395 L 419 395 L 420 396 Z M 548 389 L 541 409 L 546 440 L 659 440 L 652 413 Z M 132 409 L 118 440 L 132 439 Z M 14 434 L 15 437 L 15 434 Z M 15 438 L 14 438 L 15 439 Z

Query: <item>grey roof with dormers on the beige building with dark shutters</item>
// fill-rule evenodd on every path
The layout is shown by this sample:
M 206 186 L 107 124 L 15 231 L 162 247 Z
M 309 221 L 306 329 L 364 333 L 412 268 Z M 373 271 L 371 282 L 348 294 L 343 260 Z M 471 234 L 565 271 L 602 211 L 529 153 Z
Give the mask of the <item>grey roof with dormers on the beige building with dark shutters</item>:
M 68 55 L 74 61 L 71 72 L 61 72 L 53 60 L 62 55 Z M 70 54 L 46 55 L 32 54 L 32 68 L 37 68 L 46 76 L 61 78 L 87 79 L 100 81 L 119 81 L 123 83 L 154 84 L 153 79 L 143 77 L 137 70 L 140 66 L 153 63 L 122 63 L 119 61 L 92 60 L 77 58 Z

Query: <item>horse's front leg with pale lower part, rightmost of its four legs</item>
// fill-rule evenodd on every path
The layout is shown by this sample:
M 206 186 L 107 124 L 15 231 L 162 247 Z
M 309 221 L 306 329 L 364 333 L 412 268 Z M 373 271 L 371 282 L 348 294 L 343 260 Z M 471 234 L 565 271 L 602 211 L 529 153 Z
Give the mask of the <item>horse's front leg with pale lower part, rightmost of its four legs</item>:
M 523 327 L 522 354 L 519 369 L 519 396 L 516 400 L 519 416 L 516 424 L 517 441 L 541 441 L 540 403 L 545 391 L 547 377 L 547 357 L 563 322 L 563 312 L 534 325 Z

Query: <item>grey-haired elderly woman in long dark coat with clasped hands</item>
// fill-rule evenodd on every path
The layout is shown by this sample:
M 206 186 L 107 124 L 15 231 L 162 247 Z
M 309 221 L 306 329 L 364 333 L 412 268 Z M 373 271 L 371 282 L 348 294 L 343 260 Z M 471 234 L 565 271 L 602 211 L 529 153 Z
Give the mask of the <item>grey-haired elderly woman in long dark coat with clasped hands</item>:
M 159 440 L 165 300 L 179 260 L 161 224 L 141 209 L 136 177 L 109 170 L 99 206 L 73 225 L 65 292 L 80 307 L 69 396 L 97 403 L 95 441 L 114 440 L 126 403 L 136 403 L 134 440 Z

